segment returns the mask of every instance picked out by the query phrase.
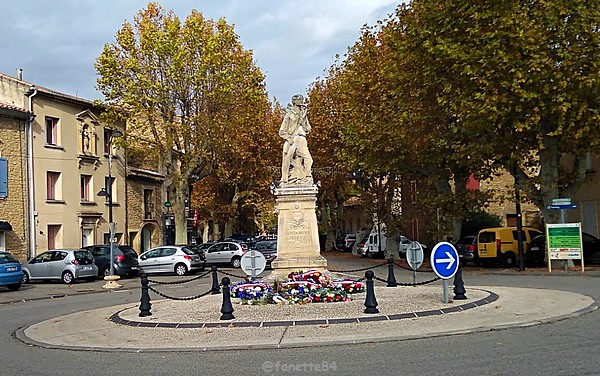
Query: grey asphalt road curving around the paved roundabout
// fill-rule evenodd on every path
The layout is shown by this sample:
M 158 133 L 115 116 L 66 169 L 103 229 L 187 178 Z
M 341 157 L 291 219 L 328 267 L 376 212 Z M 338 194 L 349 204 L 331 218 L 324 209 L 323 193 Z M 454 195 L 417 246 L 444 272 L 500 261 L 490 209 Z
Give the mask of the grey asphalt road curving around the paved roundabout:
M 326 255 L 327 256 L 327 255 Z M 381 260 L 341 257 L 340 267 L 358 268 Z M 333 265 L 333 263 L 332 263 Z M 231 270 L 231 272 L 234 272 Z M 358 273 L 360 274 L 360 273 Z M 405 275 L 399 279 L 408 278 Z M 158 278 L 158 277 L 157 277 Z M 178 277 L 160 277 L 175 280 Z M 465 270 L 465 287 L 501 285 L 559 289 L 583 293 L 596 300 L 598 274 L 578 275 Z M 575 319 L 498 331 L 376 344 L 225 352 L 124 353 L 49 350 L 32 347 L 13 337 L 20 327 L 66 313 L 139 301 L 137 280 L 128 289 L 103 291 L 102 282 L 25 286 L 22 295 L 40 295 L 6 303 L 0 292 L 2 375 L 599 375 L 600 313 Z M 174 287 L 188 292 L 209 287 Z M 47 295 L 67 289 L 69 294 Z M 38 291 L 39 290 L 39 291 Z M 40 291 L 45 293 L 40 293 Z M 99 292 L 98 292 L 99 291 Z M 34 294 L 35 293 L 35 294 Z M 197 293 L 197 292 L 195 292 Z M 191 294 L 192 295 L 192 294 Z M 62 297 L 58 297 L 62 296 Z M 94 323 L 89 323 L 93 327 Z M 419 325 L 416 321 L 415 325 Z

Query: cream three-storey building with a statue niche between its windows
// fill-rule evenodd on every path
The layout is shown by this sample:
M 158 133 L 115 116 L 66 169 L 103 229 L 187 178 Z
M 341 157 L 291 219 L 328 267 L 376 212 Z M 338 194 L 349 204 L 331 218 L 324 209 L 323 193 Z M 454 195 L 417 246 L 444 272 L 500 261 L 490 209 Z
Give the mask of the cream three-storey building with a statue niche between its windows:
M 150 174 L 140 184 L 133 174 L 128 186 L 125 153 L 115 145 L 125 129 L 102 123 L 101 107 L 4 74 L 0 101 L 32 114 L 23 138 L 28 151 L 23 163 L 31 171 L 22 198 L 28 229 L 24 256 L 109 243 L 111 217 L 117 244 L 129 244 L 130 237 L 144 245 L 141 249 L 160 244 L 160 215 L 138 220 L 134 214 L 128 222 L 128 210 L 144 213 L 148 197 L 160 199 L 164 179 Z M 151 195 L 148 187 L 158 193 Z

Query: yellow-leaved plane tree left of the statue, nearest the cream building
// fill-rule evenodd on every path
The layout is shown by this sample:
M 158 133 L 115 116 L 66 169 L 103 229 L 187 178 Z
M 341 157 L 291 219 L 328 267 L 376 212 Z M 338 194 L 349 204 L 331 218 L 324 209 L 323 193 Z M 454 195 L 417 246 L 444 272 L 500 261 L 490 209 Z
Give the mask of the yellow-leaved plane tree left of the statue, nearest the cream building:
M 176 242 L 185 243 L 189 186 L 215 171 L 231 135 L 256 127 L 266 108 L 252 52 L 224 19 L 193 10 L 182 21 L 149 3 L 104 46 L 96 70 L 109 115 L 127 122 L 127 142 L 166 173 Z

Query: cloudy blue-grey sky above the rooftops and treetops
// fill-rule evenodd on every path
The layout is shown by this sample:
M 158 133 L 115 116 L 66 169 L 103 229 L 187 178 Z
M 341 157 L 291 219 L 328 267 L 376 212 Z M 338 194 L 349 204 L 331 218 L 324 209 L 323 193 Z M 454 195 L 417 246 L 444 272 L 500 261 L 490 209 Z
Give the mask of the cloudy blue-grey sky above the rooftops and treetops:
M 363 25 L 385 19 L 399 0 L 162 0 L 181 19 L 196 9 L 233 24 L 266 76 L 271 99 L 286 104 L 323 77 Z M 124 21 L 144 9 L 138 0 L 0 0 L 0 72 L 85 99 L 102 99 L 94 63 Z

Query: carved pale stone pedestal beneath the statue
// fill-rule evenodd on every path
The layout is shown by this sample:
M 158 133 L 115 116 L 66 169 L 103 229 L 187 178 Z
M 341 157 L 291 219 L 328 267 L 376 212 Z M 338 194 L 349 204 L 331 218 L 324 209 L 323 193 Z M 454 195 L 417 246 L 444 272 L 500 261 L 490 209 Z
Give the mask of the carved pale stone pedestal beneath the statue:
M 321 256 L 317 225 L 317 187 L 277 188 L 277 259 L 272 263 L 271 279 L 287 279 L 290 272 L 316 269 L 327 271 Z

